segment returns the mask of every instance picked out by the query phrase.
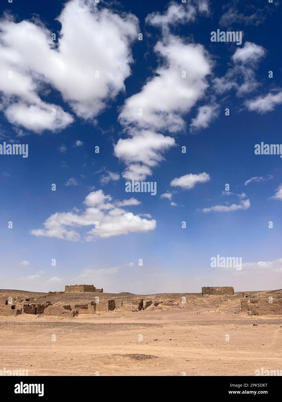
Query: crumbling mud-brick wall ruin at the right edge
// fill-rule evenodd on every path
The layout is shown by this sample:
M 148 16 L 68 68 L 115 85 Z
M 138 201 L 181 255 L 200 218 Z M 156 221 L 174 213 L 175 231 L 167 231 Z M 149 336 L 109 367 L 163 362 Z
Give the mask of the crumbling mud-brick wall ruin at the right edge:
M 249 316 L 282 314 L 282 293 L 264 295 L 245 295 L 241 299 L 241 311 Z

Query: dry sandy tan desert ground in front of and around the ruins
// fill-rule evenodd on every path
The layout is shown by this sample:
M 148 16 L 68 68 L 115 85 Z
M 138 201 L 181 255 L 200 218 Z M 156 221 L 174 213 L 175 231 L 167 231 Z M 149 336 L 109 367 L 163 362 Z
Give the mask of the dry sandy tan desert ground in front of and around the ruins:
M 52 304 L 93 300 L 93 293 L 49 296 L 0 290 L 0 297 L 9 295 L 48 299 Z M 186 303 L 182 303 L 183 295 Z M 29 375 L 48 376 L 244 376 L 254 375 L 261 367 L 282 369 L 282 315 L 240 312 L 242 293 L 99 296 L 122 299 L 124 306 L 73 318 L 0 317 L 0 369 L 26 369 Z M 163 304 L 133 312 L 130 303 L 140 297 Z

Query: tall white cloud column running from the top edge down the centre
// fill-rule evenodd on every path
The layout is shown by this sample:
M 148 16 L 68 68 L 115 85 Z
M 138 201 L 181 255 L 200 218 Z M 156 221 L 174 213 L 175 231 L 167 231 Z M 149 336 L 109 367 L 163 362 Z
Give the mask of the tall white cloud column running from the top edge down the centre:
M 119 114 L 127 139 L 115 145 L 115 155 L 126 164 L 123 177 L 144 180 L 163 154 L 175 145 L 164 132 L 185 129 L 184 116 L 204 96 L 212 61 L 204 46 L 187 43 L 171 34 L 169 25 L 192 21 L 197 12 L 206 12 L 207 1 L 197 4 L 172 2 L 163 13 L 153 12 L 146 23 L 160 27 L 161 39 L 154 46 L 158 67 L 140 92 L 127 98 Z M 141 150 L 141 152 L 140 152 Z

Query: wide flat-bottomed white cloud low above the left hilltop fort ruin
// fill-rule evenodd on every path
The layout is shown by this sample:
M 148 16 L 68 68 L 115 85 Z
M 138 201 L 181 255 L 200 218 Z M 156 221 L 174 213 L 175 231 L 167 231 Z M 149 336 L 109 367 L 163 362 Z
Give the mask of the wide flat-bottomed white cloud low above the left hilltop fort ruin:
M 84 234 L 84 240 L 90 241 L 130 232 L 148 232 L 156 228 L 154 219 L 142 219 L 132 212 L 121 209 L 118 207 L 121 205 L 120 202 L 124 201 L 112 201 L 111 196 L 105 195 L 102 190 L 92 191 L 84 199 L 86 209 L 83 213 L 56 212 L 43 223 L 45 229 L 32 230 L 31 234 L 78 241 L 80 234 L 75 228 L 93 226 Z M 136 201 L 131 199 L 130 205 L 137 205 Z

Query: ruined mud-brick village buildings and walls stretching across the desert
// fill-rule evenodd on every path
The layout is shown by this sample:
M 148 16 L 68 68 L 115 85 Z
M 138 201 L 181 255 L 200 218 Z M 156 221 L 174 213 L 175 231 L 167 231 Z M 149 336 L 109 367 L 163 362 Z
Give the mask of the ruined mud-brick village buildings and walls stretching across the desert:
M 46 299 L 48 296 L 62 293 L 93 293 L 93 300 L 85 304 L 60 304 L 60 301 L 52 304 L 48 300 L 38 301 L 38 299 Z M 202 295 L 207 297 L 216 295 L 234 296 L 235 292 L 232 286 L 202 287 Z M 74 317 L 78 314 L 96 314 L 121 309 L 124 303 L 126 303 L 127 307 L 130 306 L 132 312 L 146 310 L 151 305 L 175 306 L 173 301 L 152 301 L 136 297 L 134 301 L 128 304 L 128 301 L 120 298 L 121 296 L 116 299 L 105 299 L 103 296 L 103 288 L 96 289 L 94 285 L 66 285 L 64 292 L 49 292 L 48 295 L 40 296 L 34 300 L 30 300 L 27 297 L 13 299 L 12 296 L 9 296 L 8 298 L 0 299 L 0 316 L 43 314 L 44 316 Z M 240 297 L 241 313 L 243 314 L 248 313 L 249 316 L 282 314 L 282 293 L 250 295 L 246 292 L 238 292 L 237 296 Z M 187 299 L 189 304 L 189 295 L 187 295 Z M 181 304 L 181 301 L 177 303 L 177 306 L 179 304 Z

